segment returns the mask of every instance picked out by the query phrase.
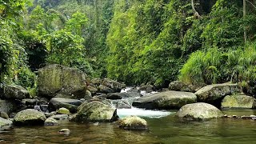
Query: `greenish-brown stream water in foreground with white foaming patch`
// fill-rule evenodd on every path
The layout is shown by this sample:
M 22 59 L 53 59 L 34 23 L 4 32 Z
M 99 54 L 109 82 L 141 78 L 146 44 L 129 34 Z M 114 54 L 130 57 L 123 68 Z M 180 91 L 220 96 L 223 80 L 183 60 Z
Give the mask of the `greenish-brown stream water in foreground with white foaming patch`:
M 132 113 L 134 111 L 134 113 Z M 225 114 L 250 115 L 255 110 L 224 110 Z M 14 127 L 0 133 L 0 143 L 254 143 L 256 122 L 250 119 L 219 118 L 201 122 L 182 122 L 175 111 L 120 110 L 126 116 L 144 116 L 148 131 L 119 129 L 113 123 L 62 122 L 59 126 Z M 148 114 L 148 115 L 147 115 Z M 170 114 L 166 116 L 166 114 Z M 70 135 L 58 134 L 62 128 Z

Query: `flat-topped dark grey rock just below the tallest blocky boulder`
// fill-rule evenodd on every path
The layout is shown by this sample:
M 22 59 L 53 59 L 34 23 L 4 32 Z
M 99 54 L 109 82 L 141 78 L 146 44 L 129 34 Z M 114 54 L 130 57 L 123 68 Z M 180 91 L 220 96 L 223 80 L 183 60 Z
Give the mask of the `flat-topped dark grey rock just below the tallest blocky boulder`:
M 54 111 L 59 108 L 65 107 L 70 110 L 71 113 L 75 113 L 78 110 L 78 106 L 82 104 L 82 101 L 71 98 L 51 98 L 49 102 L 49 110 Z

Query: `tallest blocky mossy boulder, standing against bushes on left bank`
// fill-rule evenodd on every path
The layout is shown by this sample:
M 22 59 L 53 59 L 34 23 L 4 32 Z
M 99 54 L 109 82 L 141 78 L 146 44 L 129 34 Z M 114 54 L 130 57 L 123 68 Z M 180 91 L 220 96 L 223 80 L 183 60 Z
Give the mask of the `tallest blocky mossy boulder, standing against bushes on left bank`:
M 56 94 L 70 98 L 86 95 L 86 74 L 81 70 L 61 65 L 45 66 L 38 70 L 38 94 L 53 98 Z

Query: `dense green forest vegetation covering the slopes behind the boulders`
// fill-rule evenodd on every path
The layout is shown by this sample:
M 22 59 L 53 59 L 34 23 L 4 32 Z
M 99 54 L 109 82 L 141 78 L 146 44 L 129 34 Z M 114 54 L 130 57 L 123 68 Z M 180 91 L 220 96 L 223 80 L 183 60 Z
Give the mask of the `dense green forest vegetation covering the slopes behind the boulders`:
M 35 91 L 51 63 L 126 84 L 256 82 L 255 4 L 1 0 L 1 82 Z

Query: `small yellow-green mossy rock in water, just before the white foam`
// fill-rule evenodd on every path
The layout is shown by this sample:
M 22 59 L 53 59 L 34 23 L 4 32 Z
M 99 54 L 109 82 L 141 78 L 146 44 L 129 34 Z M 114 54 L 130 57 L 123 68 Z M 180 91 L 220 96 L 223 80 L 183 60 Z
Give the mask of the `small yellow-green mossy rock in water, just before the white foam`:
M 128 116 L 118 120 L 118 126 L 125 130 L 147 130 L 146 120 L 137 116 Z

